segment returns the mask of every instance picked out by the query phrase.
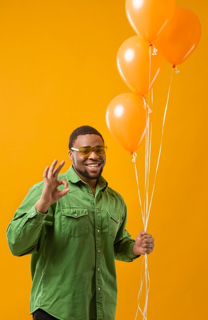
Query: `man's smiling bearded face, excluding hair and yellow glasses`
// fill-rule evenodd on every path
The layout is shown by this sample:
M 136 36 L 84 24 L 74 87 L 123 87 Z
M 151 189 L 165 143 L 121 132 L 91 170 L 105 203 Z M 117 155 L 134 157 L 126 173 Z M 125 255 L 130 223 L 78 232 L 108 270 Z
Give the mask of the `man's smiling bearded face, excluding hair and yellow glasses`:
M 78 135 L 73 148 L 90 146 L 103 146 L 103 141 L 97 134 Z M 69 158 L 73 163 L 74 171 L 78 176 L 89 184 L 92 180 L 97 181 L 106 164 L 106 155 L 99 157 L 94 151 L 88 158 L 82 157 L 78 151 L 69 150 Z

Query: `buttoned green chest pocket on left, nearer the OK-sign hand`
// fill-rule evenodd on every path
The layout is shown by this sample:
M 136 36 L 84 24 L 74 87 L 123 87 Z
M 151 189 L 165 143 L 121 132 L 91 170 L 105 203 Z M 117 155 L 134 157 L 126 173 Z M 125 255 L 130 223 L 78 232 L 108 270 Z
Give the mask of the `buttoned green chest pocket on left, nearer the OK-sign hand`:
M 61 208 L 61 228 L 64 235 L 81 237 L 88 233 L 87 208 Z

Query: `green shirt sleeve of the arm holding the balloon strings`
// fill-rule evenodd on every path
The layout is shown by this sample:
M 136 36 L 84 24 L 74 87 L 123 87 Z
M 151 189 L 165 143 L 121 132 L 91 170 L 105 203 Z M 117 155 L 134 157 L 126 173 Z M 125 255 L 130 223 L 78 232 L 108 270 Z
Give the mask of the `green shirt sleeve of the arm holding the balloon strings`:
M 131 262 L 137 259 L 139 256 L 135 256 L 132 253 L 132 247 L 135 243 L 135 240 L 131 238 L 131 235 L 126 230 L 127 224 L 127 207 L 124 204 L 124 214 L 123 214 L 123 221 L 119 227 L 117 232 L 115 241 L 114 241 L 114 253 L 115 259 L 125 262 Z

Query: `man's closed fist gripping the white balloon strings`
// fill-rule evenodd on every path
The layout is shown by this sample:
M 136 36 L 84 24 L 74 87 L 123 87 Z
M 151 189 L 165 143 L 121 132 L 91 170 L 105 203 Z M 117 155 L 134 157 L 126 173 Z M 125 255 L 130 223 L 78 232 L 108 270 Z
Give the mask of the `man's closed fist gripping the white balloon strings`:
M 132 252 L 135 256 L 150 254 L 154 245 L 153 237 L 142 230 L 136 237 L 136 241 L 132 247 Z

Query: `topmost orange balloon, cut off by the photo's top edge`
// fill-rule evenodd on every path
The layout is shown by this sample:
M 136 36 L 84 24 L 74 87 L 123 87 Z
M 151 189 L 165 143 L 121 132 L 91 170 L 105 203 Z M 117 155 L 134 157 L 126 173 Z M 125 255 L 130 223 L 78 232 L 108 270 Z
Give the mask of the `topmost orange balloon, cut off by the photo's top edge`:
M 154 41 L 173 17 L 175 0 L 126 0 L 126 13 L 134 31 L 145 41 Z

